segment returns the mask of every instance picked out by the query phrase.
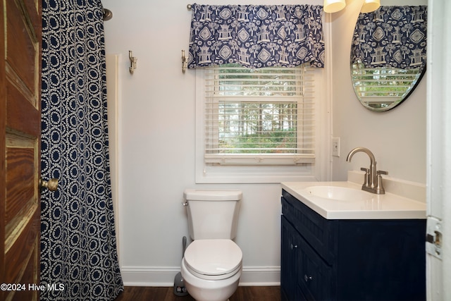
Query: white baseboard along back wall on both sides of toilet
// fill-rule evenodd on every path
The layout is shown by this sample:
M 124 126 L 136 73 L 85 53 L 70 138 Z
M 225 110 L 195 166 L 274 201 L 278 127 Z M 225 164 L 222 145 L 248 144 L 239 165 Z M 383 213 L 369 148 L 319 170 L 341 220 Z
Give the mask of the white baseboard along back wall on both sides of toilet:
M 123 266 L 121 274 L 125 286 L 173 286 L 180 267 Z M 280 285 L 280 266 L 243 267 L 241 286 Z

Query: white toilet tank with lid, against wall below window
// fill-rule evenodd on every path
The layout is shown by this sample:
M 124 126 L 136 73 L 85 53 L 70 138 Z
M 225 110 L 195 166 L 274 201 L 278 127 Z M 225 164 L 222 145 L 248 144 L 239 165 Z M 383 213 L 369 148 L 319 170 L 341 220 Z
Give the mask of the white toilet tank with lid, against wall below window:
M 197 190 L 183 192 L 188 230 L 193 240 L 230 239 L 237 235 L 240 190 Z

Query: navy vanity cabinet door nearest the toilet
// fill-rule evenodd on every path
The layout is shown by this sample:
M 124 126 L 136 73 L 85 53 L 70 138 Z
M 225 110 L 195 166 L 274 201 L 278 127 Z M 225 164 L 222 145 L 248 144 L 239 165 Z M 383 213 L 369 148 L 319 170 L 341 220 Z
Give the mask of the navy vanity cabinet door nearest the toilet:
M 297 286 L 299 233 L 282 216 L 282 245 L 280 257 L 280 291 L 282 300 L 305 300 Z

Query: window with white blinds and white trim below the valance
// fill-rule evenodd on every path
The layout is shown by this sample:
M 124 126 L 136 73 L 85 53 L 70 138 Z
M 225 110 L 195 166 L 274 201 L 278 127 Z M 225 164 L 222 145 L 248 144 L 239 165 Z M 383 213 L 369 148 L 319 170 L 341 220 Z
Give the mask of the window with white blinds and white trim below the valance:
M 315 82 L 322 69 L 227 64 L 197 72 L 198 183 L 314 177 L 321 98 Z

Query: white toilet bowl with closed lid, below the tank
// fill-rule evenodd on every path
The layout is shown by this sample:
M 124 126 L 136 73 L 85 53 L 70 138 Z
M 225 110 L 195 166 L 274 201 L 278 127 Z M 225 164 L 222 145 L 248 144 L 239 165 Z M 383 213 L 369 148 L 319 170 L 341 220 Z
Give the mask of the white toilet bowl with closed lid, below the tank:
M 181 274 L 197 301 L 226 301 L 242 273 L 242 252 L 233 240 L 194 240 L 185 250 Z

